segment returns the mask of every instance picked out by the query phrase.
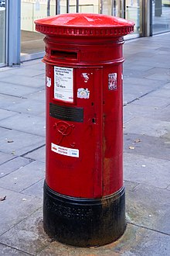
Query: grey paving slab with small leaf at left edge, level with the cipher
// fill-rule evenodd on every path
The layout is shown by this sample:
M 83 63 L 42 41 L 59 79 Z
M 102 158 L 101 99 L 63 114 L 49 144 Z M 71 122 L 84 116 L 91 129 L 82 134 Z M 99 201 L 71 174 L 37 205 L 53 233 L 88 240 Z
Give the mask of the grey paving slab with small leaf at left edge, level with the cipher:
M 21 131 L 5 129 L 1 127 L 0 133 L 0 151 L 12 154 L 12 157 L 26 154 L 32 150 L 42 147 L 45 144 L 44 137 L 40 137 L 31 133 L 23 133 Z

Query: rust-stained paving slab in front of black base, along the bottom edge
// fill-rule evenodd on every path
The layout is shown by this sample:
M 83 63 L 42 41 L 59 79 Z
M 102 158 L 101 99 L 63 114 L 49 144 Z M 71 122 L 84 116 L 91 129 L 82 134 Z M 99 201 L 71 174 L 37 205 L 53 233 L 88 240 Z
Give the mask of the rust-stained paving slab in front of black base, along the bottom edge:
M 52 242 L 42 250 L 39 256 L 146 256 L 167 255 L 170 238 L 152 230 L 135 227 L 128 224 L 121 239 L 114 243 L 92 248 L 71 247 L 58 242 Z

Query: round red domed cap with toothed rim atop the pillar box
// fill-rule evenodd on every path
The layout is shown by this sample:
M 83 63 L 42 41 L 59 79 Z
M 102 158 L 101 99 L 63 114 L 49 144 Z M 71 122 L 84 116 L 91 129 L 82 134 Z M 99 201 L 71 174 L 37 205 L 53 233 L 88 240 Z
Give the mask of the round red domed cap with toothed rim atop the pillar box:
M 36 31 L 49 36 L 125 36 L 134 32 L 134 22 L 92 13 L 67 13 L 37 19 Z

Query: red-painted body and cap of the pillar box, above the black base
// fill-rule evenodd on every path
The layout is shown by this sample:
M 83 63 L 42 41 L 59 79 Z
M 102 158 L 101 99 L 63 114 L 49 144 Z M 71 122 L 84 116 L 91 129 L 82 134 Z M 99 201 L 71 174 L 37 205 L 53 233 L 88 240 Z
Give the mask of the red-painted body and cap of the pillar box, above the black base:
M 46 183 L 60 194 L 101 198 L 123 186 L 122 36 L 133 26 L 124 19 L 87 14 L 36 21 L 36 29 L 46 33 Z M 98 29 L 103 33 L 97 34 Z M 54 99 L 54 77 L 62 75 L 55 67 L 73 68 L 70 102 Z M 82 98 L 81 92 L 89 95 Z M 50 116 L 50 103 L 83 109 L 83 122 Z M 64 155 L 64 148 L 79 150 L 79 154 Z

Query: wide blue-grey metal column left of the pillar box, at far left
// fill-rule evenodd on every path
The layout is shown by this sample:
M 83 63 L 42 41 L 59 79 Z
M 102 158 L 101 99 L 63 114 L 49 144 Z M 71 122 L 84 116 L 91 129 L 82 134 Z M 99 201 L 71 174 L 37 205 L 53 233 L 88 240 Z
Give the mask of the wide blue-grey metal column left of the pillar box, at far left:
M 21 1 L 8 0 L 8 66 L 20 64 L 21 52 Z

